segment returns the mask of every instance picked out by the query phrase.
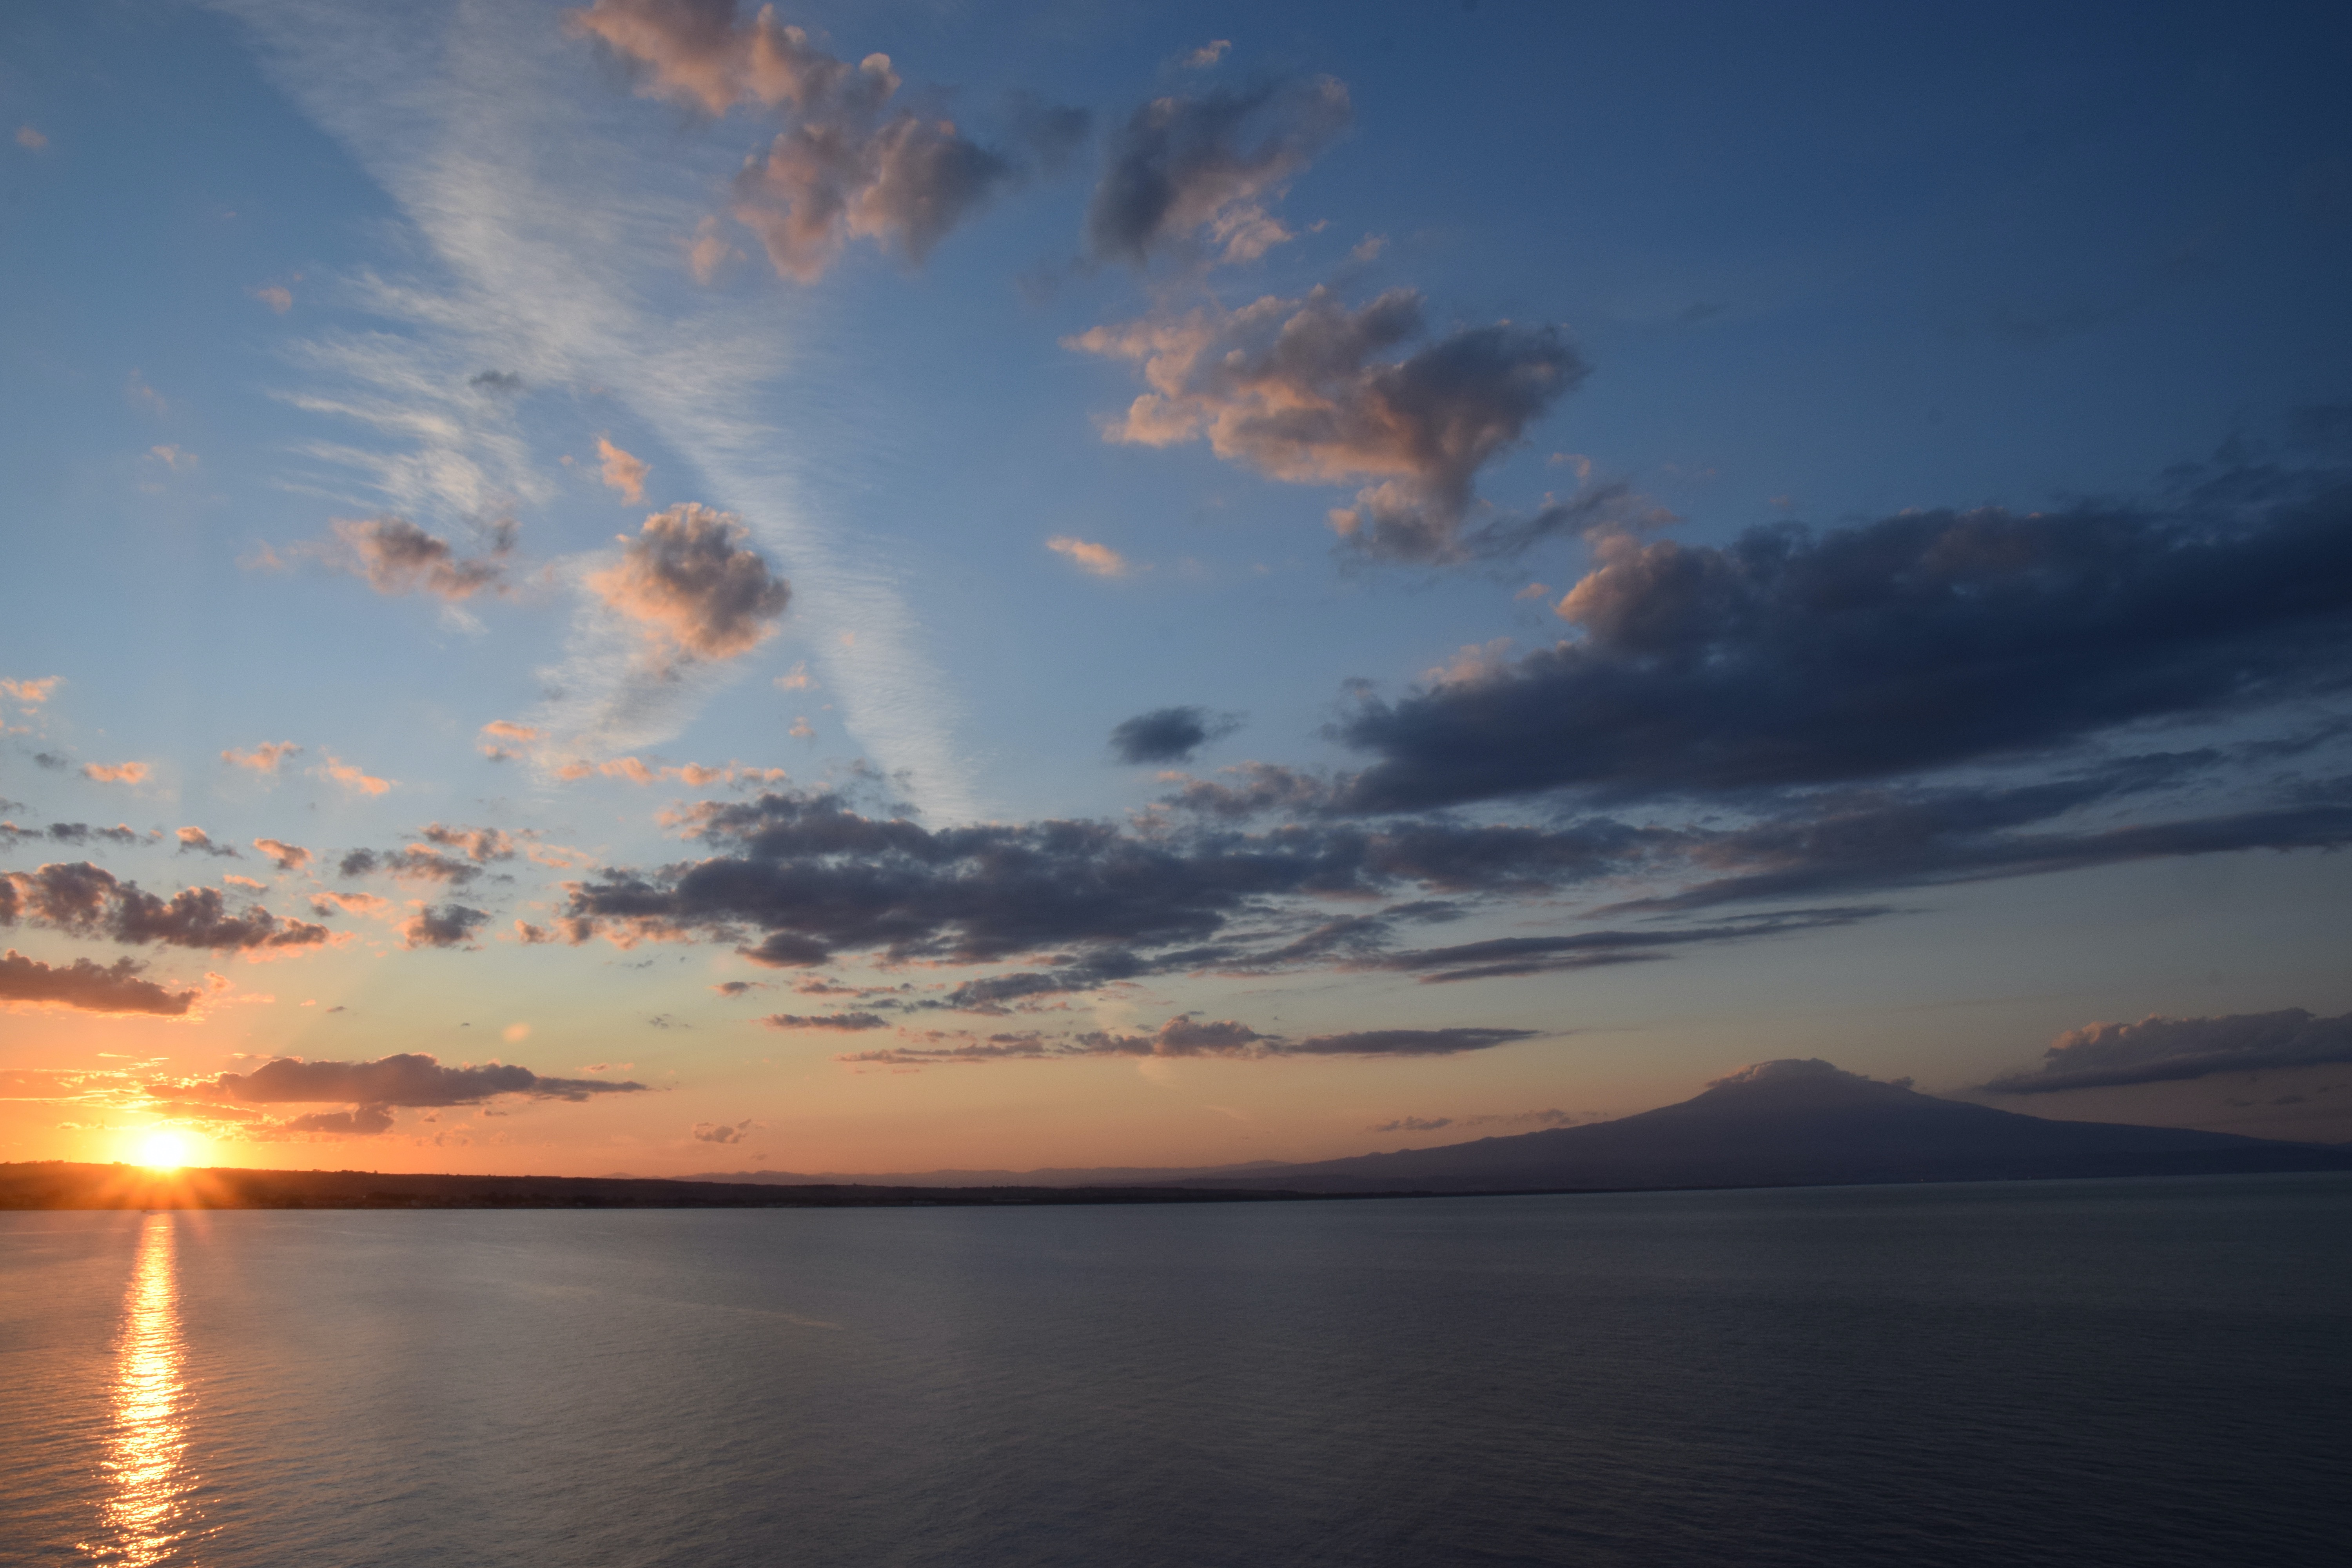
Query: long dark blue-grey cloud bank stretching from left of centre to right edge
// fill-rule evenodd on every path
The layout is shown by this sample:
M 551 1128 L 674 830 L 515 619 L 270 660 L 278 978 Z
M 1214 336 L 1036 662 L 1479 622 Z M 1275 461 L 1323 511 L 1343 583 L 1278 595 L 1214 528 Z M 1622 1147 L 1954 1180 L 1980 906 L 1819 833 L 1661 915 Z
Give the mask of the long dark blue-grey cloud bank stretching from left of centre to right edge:
M 560 933 L 727 940 L 767 966 L 1016 964 L 786 1025 L 870 1027 L 1178 971 L 1656 961 L 1891 912 L 1839 898 L 1863 889 L 2352 842 L 2352 780 L 2326 771 L 2352 729 L 2338 473 L 2237 468 L 2161 508 L 1915 512 L 1726 545 L 1609 534 L 1562 616 L 1555 649 L 1355 698 L 1331 733 L 1369 757 L 1357 773 L 1249 764 L 1131 825 L 927 827 L 833 792 L 706 802 L 682 816 L 703 858 L 572 884 Z M 2150 750 L 2154 726 L 2223 715 L 2234 729 Z M 1157 710 L 1115 745 L 1160 759 L 1209 731 L 1207 710 Z M 1613 893 L 1628 919 L 1411 940 L 1573 891 Z M 1708 912 L 1731 903 L 1780 907 Z M 1054 1046 L 1070 1048 L 1094 1046 Z

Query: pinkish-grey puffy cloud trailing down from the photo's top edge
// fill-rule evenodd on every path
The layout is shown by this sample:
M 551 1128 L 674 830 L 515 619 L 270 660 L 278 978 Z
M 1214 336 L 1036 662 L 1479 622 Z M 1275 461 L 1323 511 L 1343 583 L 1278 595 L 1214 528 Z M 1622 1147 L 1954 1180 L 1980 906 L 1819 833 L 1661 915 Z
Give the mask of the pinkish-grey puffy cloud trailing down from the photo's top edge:
M 731 0 L 595 0 L 569 26 L 633 61 L 647 96 L 790 120 L 734 190 L 736 221 L 783 277 L 816 282 L 854 237 L 922 261 L 1016 174 L 955 122 L 894 110 L 887 54 L 851 66 L 779 24 L 774 7 L 741 21 Z

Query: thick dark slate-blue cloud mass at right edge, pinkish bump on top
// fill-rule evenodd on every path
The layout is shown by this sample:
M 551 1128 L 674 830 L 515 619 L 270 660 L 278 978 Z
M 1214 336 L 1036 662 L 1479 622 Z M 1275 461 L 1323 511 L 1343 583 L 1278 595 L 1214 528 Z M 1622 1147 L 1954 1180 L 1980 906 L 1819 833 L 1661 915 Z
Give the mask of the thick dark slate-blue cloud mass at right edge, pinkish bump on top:
M 1576 635 L 1362 701 L 1345 795 L 1409 811 L 1705 797 L 1999 762 L 2352 684 L 2352 484 L 2230 510 L 1905 512 L 1726 545 L 1609 536 Z

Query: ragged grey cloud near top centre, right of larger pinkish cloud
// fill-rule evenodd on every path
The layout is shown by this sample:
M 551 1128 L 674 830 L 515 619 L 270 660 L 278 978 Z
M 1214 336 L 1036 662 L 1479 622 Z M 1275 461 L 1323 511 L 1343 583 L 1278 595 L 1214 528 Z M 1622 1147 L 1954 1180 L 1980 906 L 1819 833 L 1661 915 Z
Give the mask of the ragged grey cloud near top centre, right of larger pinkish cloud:
M 1291 237 L 1265 202 L 1279 197 L 1350 118 L 1348 87 L 1329 75 L 1152 99 L 1110 141 L 1087 207 L 1087 249 L 1131 266 L 1162 252 L 1254 261 Z

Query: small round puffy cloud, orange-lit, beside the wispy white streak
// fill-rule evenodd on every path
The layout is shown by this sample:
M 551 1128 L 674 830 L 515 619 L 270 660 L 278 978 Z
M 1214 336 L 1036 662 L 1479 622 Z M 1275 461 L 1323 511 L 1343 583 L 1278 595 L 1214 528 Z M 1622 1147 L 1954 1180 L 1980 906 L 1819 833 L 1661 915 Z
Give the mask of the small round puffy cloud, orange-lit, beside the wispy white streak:
M 793 597 L 734 515 L 691 501 L 654 512 L 621 545 L 621 564 L 593 574 L 588 590 L 694 658 L 760 646 Z

